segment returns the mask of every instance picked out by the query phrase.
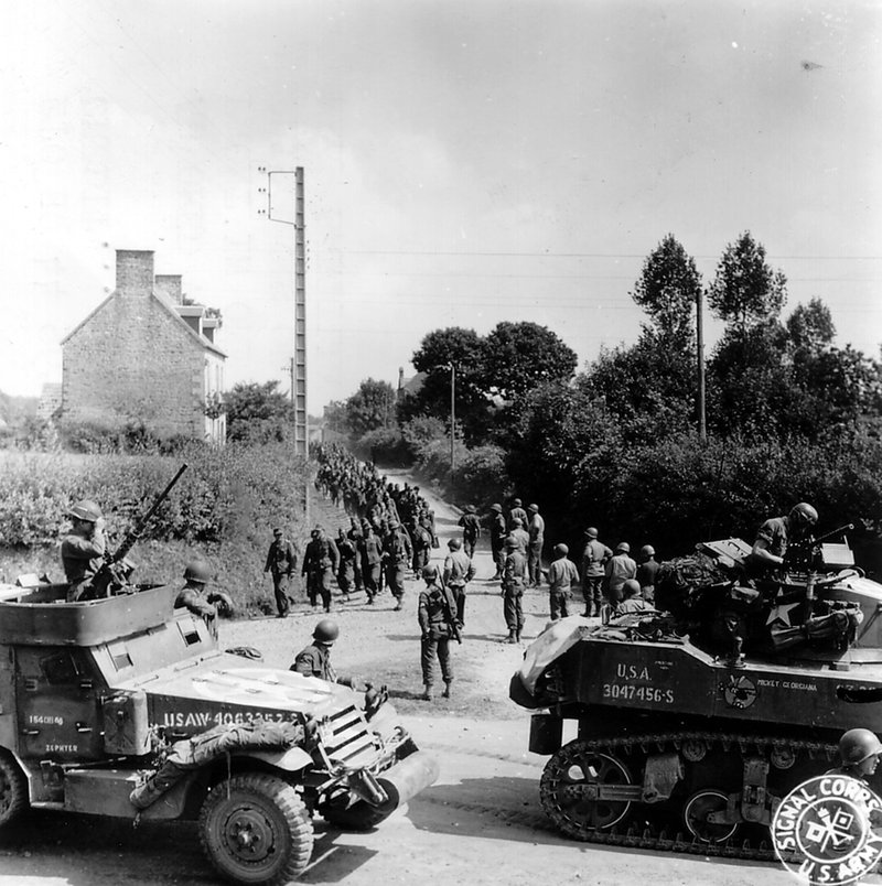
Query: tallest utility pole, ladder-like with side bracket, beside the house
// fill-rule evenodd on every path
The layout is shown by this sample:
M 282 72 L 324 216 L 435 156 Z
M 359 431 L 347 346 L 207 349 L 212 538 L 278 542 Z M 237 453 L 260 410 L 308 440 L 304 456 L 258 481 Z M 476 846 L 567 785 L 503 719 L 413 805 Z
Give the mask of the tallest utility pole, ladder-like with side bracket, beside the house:
M 268 170 L 258 166 L 258 172 L 267 176 L 267 187 L 259 188 L 267 195 L 267 208 L 258 209 L 259 215 L 270 222 L 291 225 L 294 228 L 294 356 L 291 359 L 291 402 L 294 407 L 294 451 L 309 460 L 310 441 L 306 411 L 306 231 L 303 197 L 303 166 L 291 170 Z M 286 210 L 276 207 L 272 199 L 273 176 L 293 176 L 293 218 L 286 217 Z M 304 521 L 310 519 L 310 480 L 306 469 L 303 490 Z

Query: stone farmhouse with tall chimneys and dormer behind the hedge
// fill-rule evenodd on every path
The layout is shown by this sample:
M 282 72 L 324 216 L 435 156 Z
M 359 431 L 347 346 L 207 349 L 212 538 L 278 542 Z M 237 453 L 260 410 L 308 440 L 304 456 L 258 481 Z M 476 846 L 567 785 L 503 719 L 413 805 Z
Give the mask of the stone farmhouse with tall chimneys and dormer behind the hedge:
M 186 301 L 180 274 L 153 274 L 153 252 L 117 250 L 116 289 L 62 341 L 63 423 L 142 422 L 160 437 L 223 444 L 217 409 L 226 354 L 216 311 Z

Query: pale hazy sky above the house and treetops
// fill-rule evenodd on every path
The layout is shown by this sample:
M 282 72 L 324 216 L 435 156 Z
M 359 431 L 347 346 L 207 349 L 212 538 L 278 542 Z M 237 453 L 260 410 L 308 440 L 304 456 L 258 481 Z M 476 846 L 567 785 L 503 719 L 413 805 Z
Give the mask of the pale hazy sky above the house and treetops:
M 61 381 L 115 249 L 222 311 L 227 387 L 287 390 L 261 165 L 304 168 L 313 413 L 444 326 L 633 343 L 668 233 L 708 281 L 750 230 L 875 356 L 880 37 L 857 0 L 6 0 L 0 390 Z

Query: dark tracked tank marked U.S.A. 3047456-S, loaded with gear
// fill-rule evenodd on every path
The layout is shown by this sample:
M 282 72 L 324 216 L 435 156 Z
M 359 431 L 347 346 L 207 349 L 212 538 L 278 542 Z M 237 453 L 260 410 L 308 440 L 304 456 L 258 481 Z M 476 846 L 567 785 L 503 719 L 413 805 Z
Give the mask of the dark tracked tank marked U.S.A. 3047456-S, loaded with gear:
M 527 649 L 509 694 L 536 712 L 540 799 L 563 834 L 774 858 L 779 801 L 837 765 L 846 730 L 882 731 L 882 585 L 847 543 L 767 584 L 745 579 L 750 553 L 700 544 L 663 564 L 654 609 L 564 618 Z

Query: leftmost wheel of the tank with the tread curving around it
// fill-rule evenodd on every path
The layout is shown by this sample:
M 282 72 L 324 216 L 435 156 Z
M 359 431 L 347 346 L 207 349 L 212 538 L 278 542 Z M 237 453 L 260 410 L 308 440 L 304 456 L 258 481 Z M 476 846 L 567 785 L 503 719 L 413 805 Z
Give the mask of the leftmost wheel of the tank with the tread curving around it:
M 631 772 L 621 760 L 577 739 L 560 748 L 546 765 L 539 798 L 560 831 L 576 840 L 588 840 L 591 831 L 613 828 L 631 809 L 631 799 L 598 797 L 598 790 L 632 784 Z

